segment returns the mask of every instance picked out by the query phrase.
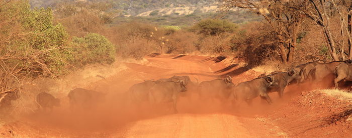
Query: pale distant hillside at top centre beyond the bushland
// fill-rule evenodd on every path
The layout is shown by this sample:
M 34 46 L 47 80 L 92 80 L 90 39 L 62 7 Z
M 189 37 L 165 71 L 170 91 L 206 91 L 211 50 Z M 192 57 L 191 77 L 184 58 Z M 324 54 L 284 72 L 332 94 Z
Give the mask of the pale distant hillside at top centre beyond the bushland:
M 60 2 L 74 0 L 30 0 L 32 7 L 54 7 Z M 121 11 L 114 22 L 131 20 L 152 22 L 157 25 L 189 26 L 205 18 L 227 19 L 234 23 L 259 21 L 261 17 L 247 10 L 234 9 L 225 15 L 219 12 L 218 0 L 77 0 L 107 2 Z

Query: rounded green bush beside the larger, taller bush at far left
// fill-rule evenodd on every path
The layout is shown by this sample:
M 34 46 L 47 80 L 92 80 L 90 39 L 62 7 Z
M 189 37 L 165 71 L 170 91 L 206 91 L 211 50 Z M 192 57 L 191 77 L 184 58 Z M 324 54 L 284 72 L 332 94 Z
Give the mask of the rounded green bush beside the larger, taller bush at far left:
M 93 63 L 111 64 L 115 61 L 115 47 L 104 36 L 91 33 L 84 38 L 74 37 L 72 39 L 75 45 L 75 58 L 73 64 L 83 66 Z

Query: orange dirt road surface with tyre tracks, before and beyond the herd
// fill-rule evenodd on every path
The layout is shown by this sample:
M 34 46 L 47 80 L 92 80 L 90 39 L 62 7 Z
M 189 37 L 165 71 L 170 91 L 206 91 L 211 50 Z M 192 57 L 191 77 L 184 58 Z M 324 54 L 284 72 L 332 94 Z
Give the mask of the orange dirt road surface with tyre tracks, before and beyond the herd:
M 200 56 L 187 56 L 173 59 L 163 55 L 155 58 L 147 58 L 150 62 L 145 66 L 127 64 L 127 66 L 141 75 L 150 79 L 167 78 L 174 74 L 189 75 L 193 81 L 211 80 L 221 74 L 232 70 L 215 74 L 218 70 L 226 68 L 222 63 L 215 63 Z M 138 74 L 138 73 L 137 73 Z M 137 77 L 138 78 L 138 77 Z M 143 79 L 143 78 L 139 78 Z M 182 101 L 185 102 L 182 102 Z M 186 105 L 185 105 L 186 104 Z M 248 116 L 235 116 L 226 113 L 187 113 L 186 99 L 180 99 L 179 114 L 165 115 L 151 119 L 139 120 L 130 125 L 124 136 L 126 137 L 267 137 L 279 136 L 279 128 L 265 124 L 262 121 Z M 192 106 L 192 105 L 190 105 Z M 210 107 L 211 108 L 211 107 Z M 197 110 L 197 109 L 193 109 Z M 206 110 L 206 109 L 205 109 Z M 213 110 L 215 110 L 213 108 Z M 244 124 L 250 122 L 249 124 Z M 267 126 L 265 126 L 267 125 Z M 265 126 L 265 127 L 263 127 Z M 260 130 L 258 130 L 260 129 Z M 276 130 L 277 132 L 273 131 Z

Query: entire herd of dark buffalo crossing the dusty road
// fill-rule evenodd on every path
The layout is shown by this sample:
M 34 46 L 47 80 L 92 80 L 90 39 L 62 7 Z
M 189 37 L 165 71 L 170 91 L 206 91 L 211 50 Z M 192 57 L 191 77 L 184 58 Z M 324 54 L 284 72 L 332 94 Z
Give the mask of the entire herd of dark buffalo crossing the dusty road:
M 338 87 L 341 80 L 352 81 L 352 64 L 351 60 L 333 61 L 325 63 L 324 61 L 314 61 L 298 65 L 288 70 L 288 72 L 275 71 L 270 74 L 261 74 L 257 78 L 239 83 L 232 83 L 232 78 L 226 76 L 201 83 L 192 82 L 189 76 L 173 76 L 159 80 L 147 80 L 132 85 L 124 93 L 125 98 L 133 104 L 160 105 L 171 103 L 174 113 L 177 113 L 177 101 L 181 93 L 186 91 L 196 91 L 200 100 L 220 100 L 231 101 L 239 105 L 245 101 L 251 105 L 252 99 L 260 97 L 272 104 L 269 92 L 278 92 L 279 97 L 283 97 L 284 89 L 289 84 L 302 84 L 311 82 L 320 87 Z M 198 81 L 198 80 L 197 80 Z M 323 83 L 321 83 L 323 82 Z M 89 108 L 105 99 L 106 94 L 75 88 L 68 93 L 71 107 Z M 36 102 L 40 109 L 60 106 L 60 99 L 55 98 L 49 93 L 42 92 L 37 95 Z

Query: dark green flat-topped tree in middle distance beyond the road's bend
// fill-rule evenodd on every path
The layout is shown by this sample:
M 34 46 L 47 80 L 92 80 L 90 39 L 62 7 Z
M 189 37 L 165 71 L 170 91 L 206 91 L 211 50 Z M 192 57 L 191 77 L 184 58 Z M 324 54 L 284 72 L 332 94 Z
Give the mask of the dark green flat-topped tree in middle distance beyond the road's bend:
M 198 22 L 191 28 L 191 31 L 206 36 L 216 36 L 223 33 L 232 33 L 238 26 L 226 20 L 206 19 Z

